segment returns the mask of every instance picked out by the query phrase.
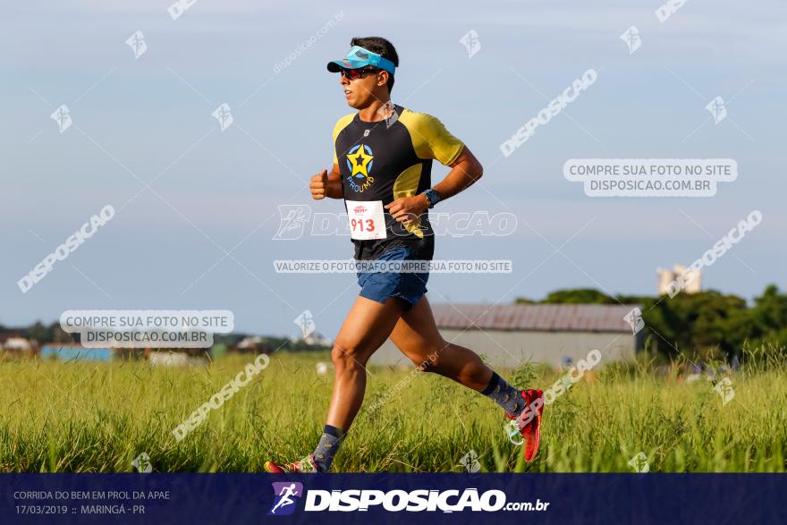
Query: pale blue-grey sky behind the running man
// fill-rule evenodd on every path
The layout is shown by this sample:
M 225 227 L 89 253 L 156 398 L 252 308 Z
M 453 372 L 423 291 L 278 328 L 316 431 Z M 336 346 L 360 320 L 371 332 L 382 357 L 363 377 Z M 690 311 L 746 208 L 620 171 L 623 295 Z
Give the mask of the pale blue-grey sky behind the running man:
M 568 287 L 653 294 L 656 267 L 688 265 L 752 209 L 763 223 L 703 284 L 749 299 L 769 283 L 787 287 L 783 3 L 687 2 L 664 23 L 659 2 L 446 11 L 198 0 L 174 21 L 169 4 L 4 7 L 0 323 L 51 322 L 65 309 L 230 309 L 237 330 L 292 335 L 309 309 L 334 336 L 358 292 L 353 275 L 276 275 L 272 261 L 350 258 L 350 241 L 272 237 L 277 206 L 313 204 L 305 181 L 331 163 L 334 122 L 350 112 L 326 61 L 372 34 L 401 58 L 393 101 L 436 115 L 486 166 L 439 211 L 519 219 L 511 236 L 438 237 L 436 258 L 508 258 L 514 271 L 432 275 L 430 301 Z M 642 38 L 632 55 L 619 38 L 631 25 Z M 137 30 L 148 50 L 135 60 L 125 40 Z M 470 30 L 481 44 L 471 58 L 459 42 Z M 500 144 L 588 68 L 598 79 L 565 114 L 501 157 Z M 705 108 L 716 96 L 729 114 L 718 124 Z M 225 131 L 211 115 L 222 103 L 234 118 Z M 49 115 L 62 104 L 73 126 L 60 133 Z M 739 176 L 707 199 L 596 199 L 563 178 L 563 163 L 583 157 L 733 158 Z M 447 171 L 436 165 L 433 181 Z M 21 275 L 106 204 L 114 219 L 22 294 Z M 343 210 L 335 200 L 312 208 Z

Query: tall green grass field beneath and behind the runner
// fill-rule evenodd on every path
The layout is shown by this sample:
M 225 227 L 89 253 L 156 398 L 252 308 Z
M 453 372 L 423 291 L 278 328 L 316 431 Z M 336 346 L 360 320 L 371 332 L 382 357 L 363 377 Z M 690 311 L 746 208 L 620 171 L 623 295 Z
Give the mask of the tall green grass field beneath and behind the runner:
M 323 353 L 274 354 L 182 442 L 173 437 L 252 359 L 207 368 L 0 359 L 0 471 L 131 471 L 142 452 L 157 471 L 254 472 L 267 459 L 300 459 L 317 443 L 331 393 L 332 369 L 316 371 L 330 362 Z M 631 471 L 639 452 L 650 471 L 785 471 L 783 368 L 735 374 L 724 405 L 704 379 L 605 367 L 546 406 L 541 452 L 527 465 L 485 397 L 430 374 L 370 372 L 334 470 L 461 472 L 474 450 L 483 471 Z M 525 367 L 504 377 L 546 388 L 559 374 Z

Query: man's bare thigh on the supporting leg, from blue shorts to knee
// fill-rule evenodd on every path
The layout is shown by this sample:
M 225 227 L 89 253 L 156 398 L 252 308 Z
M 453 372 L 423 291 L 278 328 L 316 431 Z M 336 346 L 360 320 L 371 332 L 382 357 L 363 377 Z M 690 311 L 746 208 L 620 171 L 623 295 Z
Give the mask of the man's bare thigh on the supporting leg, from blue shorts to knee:
M 368 360 L 396 326 L 403 311 L 401 301 L 391 297 L 381 303 L 359 296 L 344 319 L 334 346 L 357 360 Z

